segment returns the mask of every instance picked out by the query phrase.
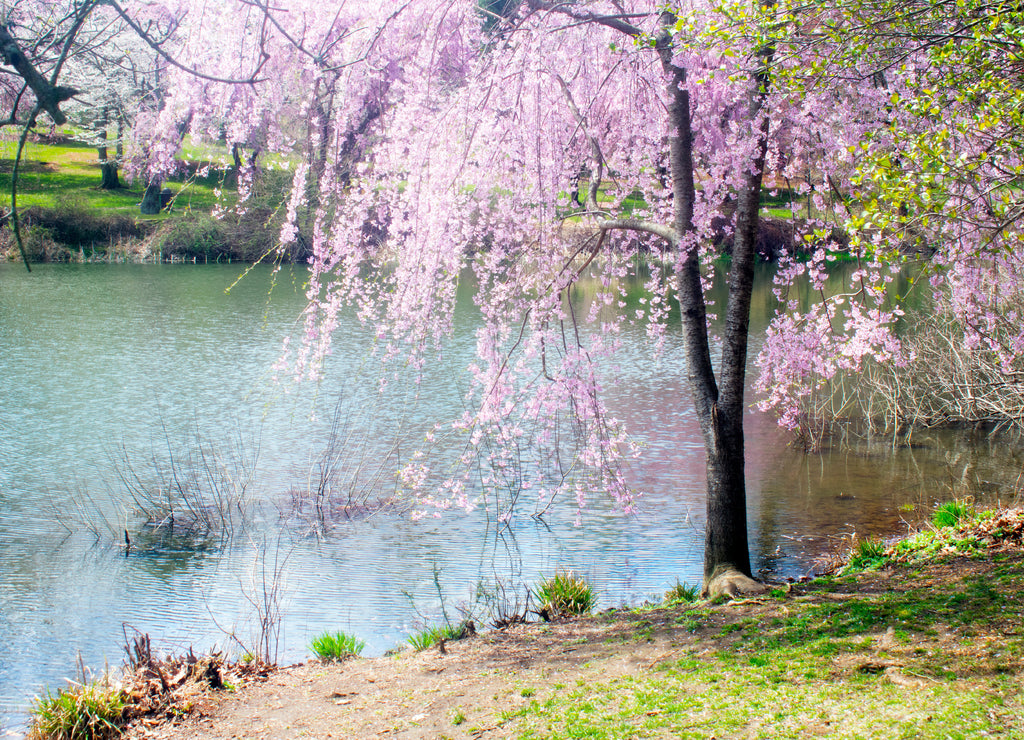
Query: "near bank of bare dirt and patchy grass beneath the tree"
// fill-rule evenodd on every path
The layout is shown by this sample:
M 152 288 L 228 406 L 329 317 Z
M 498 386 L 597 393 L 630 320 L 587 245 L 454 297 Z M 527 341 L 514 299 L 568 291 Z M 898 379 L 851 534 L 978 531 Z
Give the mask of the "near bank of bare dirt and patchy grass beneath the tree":
M 674 589 L 658 605 L 268 673 L 137 661 L 109 688 L 121 704 L 104 704 L 118 707 L 104 728 L 196 740 L 1024 738 L 1022 535 L 1024 510 L 964 510 L 753 599 L 690 603 Z

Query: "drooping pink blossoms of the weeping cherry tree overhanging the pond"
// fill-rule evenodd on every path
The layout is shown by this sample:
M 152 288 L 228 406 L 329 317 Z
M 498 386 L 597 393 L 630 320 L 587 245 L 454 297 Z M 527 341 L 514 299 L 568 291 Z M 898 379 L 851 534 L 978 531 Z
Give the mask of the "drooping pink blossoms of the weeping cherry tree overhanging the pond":
M 140 160 L 147 169 L 139 171 L 169 171 L 164 147 L 184 131 L 286 162 L 301 156 L 282 243 L 311 244 L 308 308 L 279 369 L 318 379 L 348 310 L 375 328 L 382 358 L 422 368 L 452 336 L 460 281 L 475 287 L 482 323 L 467 410 L 439 425 L 401 471 L 421 514 L 470 509 L 493 493 L 507 517 L 526 491 L 538 510 L 559 493 L 584 510 L 598 489 L 622 510 L 634 508 L 617 463 L 636 449 L 602 404 L 600 367 L 613 358 L 626 322 L 646 323 L 656 346 L 693 251 L 710 288 L 708 265 L 731 235 L 734 193 L 762 123 L 770 132 L 766 189 L 807 195 L 794 217 L 813 254 L 809 261 L 788 255 L 778 271 L 780 310 L 758 360 L 764 408 L 794 427 L 803 399 L 837 373 L 867 358 L 899 360 L 901 314 L 890 303 L 895 262 L 879 257 L 910 243 L 962 246 L 936 255 L 935 264 L 972 327 L 967 341 L 996 342 L 1011 352 L 1008 366 L 1024 344 L 1005 333 L 993 339 L 994 323 L 1016 300 L 1008 292 L 1019 265 L 971 236 L 978 209 L 992 204 L 977 194 L 969 212 L 966 190 L 924 198 L 939 188 L 922 173 L 946 178 L 931 165 L 963 154 L 963 132 L 926 151 L 921 129 L 934 119 L 900 106 L 921 97 L 914 64 L 927 64 L 927 52 L 908 53 L 880 82 L 866 71 L 869 60 L 859 70 L 861 61 L 810 43 L 827 26 L 794 24 L 790 37 L 773 41 L 774 77 L 751 121 L 751 59 L 764 42 L 705 29 L 721 17 L 718 6 L 694 0 L 680 9 L 686 23 L 671 32 L 671 60 L 687 71 L 697 192 L 692 229 L 669 243 L 650 230 L 602 226 L 626 216 L 674 218 L 656 3 L 524 0 L 508 16 L 489 17 L 476 0 L 354 0 L 340 9 L 294 0 L 288 12 L 249 2 L 206 5 L 179 0 L 179 11 L 202 18 L 181 48 L 218 77 L 258 72 L 251 84 L 230 85 L 169 70 L 173 84 L 147 124 Z M 979 177 L 976 155 L 995 129 L 970 145 Z M 894 149 L 900 157 L 890 159 L 888 175 L 895 167 L 916 172 L 913 198 L 865 216 L 864 204 L 880 201 L 879 183 L 893 180 L 885 179 L 885 158 Z M 965 182 L 980 192 L 979 181 Z M 880 202 L 901 203 L 898 193 L 883 194 Z M 830 288 L 825 257 L 836 251 L 859 269 L 852 282 Z M 647 296 L 628 312 L 622 286 L 641 264 L 638 255 L 650 266 Z M 584 276 L 598 286 L 586 310 L 569 299 Z M 981 281 L 1002 304 L 978 302 L 973 287 Z M 458 459 L 432 454 L 434 441 L 452 435 L 465 441 Z

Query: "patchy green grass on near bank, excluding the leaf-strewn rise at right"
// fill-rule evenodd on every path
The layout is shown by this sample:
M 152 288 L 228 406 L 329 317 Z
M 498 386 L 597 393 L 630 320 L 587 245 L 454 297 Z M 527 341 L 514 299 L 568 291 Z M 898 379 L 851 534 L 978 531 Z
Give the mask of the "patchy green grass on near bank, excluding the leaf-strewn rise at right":
M 927 637 L 1019 624 L 1019 591 L 974 576 L 835 603 L 830 594 L 821 586 L 825 603 L 790 600 L 768 621 L 740 618 L 720 628 L 731 642 L 718 650 L 702 641 L 651 670 L 578 682 L 502 719 L 520 738 L 1024 738 L 1021 641 L 998 643 L 1001 657 L 986 661 L 963 642 Z M 878 642 L 890 626 L 895 679 Z M 921 636 L 927 642 L 914 643 Z

